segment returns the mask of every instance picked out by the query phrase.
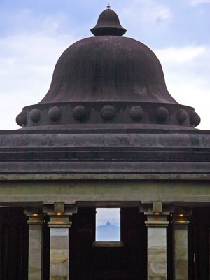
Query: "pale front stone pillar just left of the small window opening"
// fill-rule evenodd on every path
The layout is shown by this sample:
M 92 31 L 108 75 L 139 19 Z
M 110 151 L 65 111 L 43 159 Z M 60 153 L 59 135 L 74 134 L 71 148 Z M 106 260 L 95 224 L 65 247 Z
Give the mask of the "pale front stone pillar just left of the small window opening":
M 69 217 L 76 212 L 70 208 L 63 202 L 44 207 L 50 216 L 50 280 L 69 280 Z

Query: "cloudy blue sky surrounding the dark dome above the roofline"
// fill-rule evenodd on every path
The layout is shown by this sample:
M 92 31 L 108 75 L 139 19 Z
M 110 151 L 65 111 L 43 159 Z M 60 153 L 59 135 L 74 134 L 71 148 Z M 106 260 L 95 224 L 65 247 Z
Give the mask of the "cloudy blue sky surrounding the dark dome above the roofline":
M 210 0 L 1 0 L 0 130 L 18 129 L 24 106 L 48 92 L 62 52 L 90 29 L 109 3 L 127 29 L 160 59 L 167 88 L 210 130 Z

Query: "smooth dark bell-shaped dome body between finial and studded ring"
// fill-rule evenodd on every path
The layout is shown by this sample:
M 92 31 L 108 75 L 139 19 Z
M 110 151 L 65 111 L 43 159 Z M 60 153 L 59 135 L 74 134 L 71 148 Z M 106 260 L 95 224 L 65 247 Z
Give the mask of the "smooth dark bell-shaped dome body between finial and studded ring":
M 120 36 L 85 38 L 59 58 L 40 103 L 72 101 L 177 103 L 155 54 L 143 43 Z

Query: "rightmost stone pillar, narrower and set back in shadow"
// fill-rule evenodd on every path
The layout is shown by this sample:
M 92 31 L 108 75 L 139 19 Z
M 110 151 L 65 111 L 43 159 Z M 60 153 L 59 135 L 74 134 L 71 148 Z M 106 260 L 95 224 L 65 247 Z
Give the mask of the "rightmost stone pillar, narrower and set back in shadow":
M 173 216 L 174 280 L 188 280 L 188 217 L 190 211 L 177 209 Z

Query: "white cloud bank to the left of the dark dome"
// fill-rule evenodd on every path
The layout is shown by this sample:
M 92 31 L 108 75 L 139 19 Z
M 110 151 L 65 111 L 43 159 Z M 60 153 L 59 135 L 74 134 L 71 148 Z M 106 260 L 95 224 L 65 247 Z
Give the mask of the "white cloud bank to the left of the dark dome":
M 57 59 L 73 43 L 69 36 L 45 33 L 0 38 L 0 129 L 15 129 L 22 107 L 43 99 Z

